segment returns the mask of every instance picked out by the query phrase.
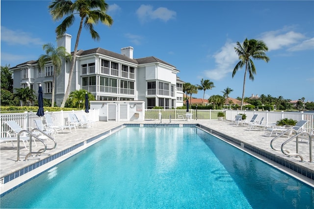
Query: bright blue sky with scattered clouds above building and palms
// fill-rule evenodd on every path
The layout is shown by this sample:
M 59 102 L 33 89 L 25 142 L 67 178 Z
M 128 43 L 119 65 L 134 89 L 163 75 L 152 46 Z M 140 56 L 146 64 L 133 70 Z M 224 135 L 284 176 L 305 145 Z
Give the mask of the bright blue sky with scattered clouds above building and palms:
M 254 61 L 254 81 L 246 79 L 245 96 L 270 94 L 285 99 L 314 101 L 314 1 L 141 1 L 108 0 L 111 27 L 95 26 L 101 40 L 83 28 L 78 48 L 102 47 L 120 53 L 134 48 L 134 58 L 155 56 L 176 66 L 185 82 L 209 79 L 215 88 L 205 98 L 242 96 L 244 69 L 232 78 L 238 62 L 234 47 L 248 39 L 265 42 L 268 63 Z M 1 66 L 37 60 L 42 45 L 55 44 L 48 0 L 1 0 Z M 72 50 L 77 22 L 68 28 Z M 203 91 L 193 95 L 203 97 Z

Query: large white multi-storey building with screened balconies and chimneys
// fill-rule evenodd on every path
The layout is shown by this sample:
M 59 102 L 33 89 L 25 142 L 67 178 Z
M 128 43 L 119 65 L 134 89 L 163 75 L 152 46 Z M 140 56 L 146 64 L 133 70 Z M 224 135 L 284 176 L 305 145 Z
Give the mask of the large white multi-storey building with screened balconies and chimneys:
M 65 34 L 57 40 L 71 52 L 71 38 Z M 73 53 L 72 53 L 73 54 Z M 55 83 L 55 102 L 60 106 L 69 81 L 71 62 L 64 63 Z M 37 61 L 31 60 L 13 70 L 13 88 L 29 87 L 37 93 L 42 84 L 44 98 L 52 98 L 53 66 L 47 63 L 38 70 Z M 133 47 L 121 48 L 115 53 L 103 48 L 78 50 L 71 90 L 85 89 L 98 101 L 145 101 L 145 108 L 161 106 L 164 109 L 183 105 L 183 81 L 179 70 L 154 56 L 133 58 Z

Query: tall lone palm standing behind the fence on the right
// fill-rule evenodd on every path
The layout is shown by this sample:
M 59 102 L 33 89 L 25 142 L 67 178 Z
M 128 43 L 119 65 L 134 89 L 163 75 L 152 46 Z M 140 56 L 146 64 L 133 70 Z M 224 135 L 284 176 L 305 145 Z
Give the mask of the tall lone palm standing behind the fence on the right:
M 236 64 L 235 69 L 232 73 L 232 77 L 235 76 L 237 70 L 243 68 L 245 66 L 244 71 L 244 80 L 243 80 L 243 92 L 242 92 L 242 100 L 241 100 L 241 110 L 243 107 L 244 100 L 244 91 L 245 91 L 245 79 L 246 73 L 249 73 L 250 80 L 254 80 L 254 74 L 256 74 L 255 65 L 253 60 L 264 60 L 265 62 L 269 61 L 269 58 L 266 56 L 265 51 L 268 51 L 268 47 L 263 41 L 250 39 L 245 39 L 243 45 L 239 42 L 236 42 L 237 47 L 235 47 L 235 52 L 239 56 L 239 62 Z

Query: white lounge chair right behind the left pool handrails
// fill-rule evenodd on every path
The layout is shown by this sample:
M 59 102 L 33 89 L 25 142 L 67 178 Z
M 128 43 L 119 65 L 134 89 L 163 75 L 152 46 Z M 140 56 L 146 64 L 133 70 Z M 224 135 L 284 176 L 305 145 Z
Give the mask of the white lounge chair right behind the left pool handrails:
M 6 121 L 5 122 L 9 127 L 10 127 L 10 130 L 7 132 L 8 135 L 7 137 L 2 137 L 1 138 L 1 141 L 11 141 L 12 142 L 12 145 L 13 145 L 13 141 L 17 141 L 18 140 L 18 134 L 21 132 L 21 131 L 25 131 L 26 129 L 23 129 L 17 122 L 15 122 L 14 120 L 9 120 L 9 121 Z M 28 142 L 28 139 L 30 137 L 27 136 L 26 133 L 22 133 L 20 134 L 20 140 L 23 141 L 23 144 L 25 146 L 25 148 L 28 150 L 27 146 L 26 146 L 26 143 L 25 142 Z M 34 143 L 35 143 L 35 146 L 37 146 L 37 143 L 36 143 L 36 140 L 33 138 L 34 140 Z M 13 146 L 14 147 L 14 146 Z

